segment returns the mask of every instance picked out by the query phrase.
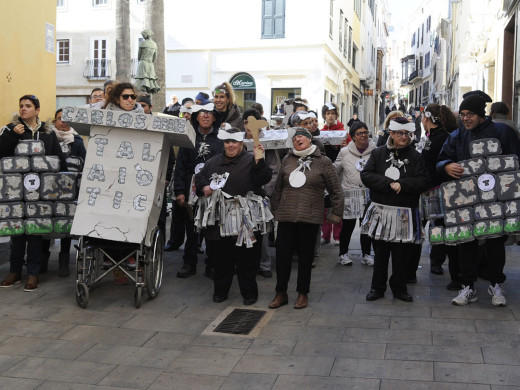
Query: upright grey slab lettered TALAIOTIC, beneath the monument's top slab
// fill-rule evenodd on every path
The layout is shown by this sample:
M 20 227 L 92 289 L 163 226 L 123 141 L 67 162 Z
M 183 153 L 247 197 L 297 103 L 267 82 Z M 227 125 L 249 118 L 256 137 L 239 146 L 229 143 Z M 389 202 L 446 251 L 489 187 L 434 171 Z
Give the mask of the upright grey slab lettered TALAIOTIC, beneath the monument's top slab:
M 92 130 L 71 234 L 141 243 L 157 223 L 169 142 L 161 133 Z

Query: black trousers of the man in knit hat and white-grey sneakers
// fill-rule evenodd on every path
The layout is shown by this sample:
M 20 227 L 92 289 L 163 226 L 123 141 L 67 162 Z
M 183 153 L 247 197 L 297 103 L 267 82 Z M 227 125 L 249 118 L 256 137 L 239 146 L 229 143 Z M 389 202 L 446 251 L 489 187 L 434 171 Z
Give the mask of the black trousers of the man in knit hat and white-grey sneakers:
M 486 265 L 485 274 L 491 284 L 502 283 L 506 263 L 506 249 L 504 243 L 507 236 L 488 238 L 485 244 Z M 465 286 L 473 288 L 479 273 L 479 246 L 478 240 L 457 245 L 459 254 L 459 280 Z

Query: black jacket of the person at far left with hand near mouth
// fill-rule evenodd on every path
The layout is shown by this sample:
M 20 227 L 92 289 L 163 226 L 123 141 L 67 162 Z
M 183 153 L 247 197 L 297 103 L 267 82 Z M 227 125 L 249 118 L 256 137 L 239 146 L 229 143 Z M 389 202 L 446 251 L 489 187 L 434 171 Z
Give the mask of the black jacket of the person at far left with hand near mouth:
M 17 124 L 22 124 L 25 131 L 22 134 L 14 132 L 14 127 Z M 60 158 L 60 170 L 67 171 L 67 157 L 60 146 L 60 141 L 56 136 L 56 133 L 41 123 L 39 129 L 33 132 L 27 124 L 19 117 L 16 117 L 14 121 L 7 126 L 4 126 L 0 133 L 0 158 L 14 156 L 14 149 L 21 140 L 38 139 L 43 141 L 45 148 L 45 155 L 47 156 L 58 156 Z

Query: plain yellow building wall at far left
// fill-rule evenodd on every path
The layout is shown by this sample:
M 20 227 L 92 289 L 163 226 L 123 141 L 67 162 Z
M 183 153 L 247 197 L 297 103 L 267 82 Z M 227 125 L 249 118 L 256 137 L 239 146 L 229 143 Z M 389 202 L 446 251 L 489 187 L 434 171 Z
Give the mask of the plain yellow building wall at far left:
M 38 97 L 47 120 L 56 107 L 56 0 L 0 2 L 0 127 L 25 94 Z

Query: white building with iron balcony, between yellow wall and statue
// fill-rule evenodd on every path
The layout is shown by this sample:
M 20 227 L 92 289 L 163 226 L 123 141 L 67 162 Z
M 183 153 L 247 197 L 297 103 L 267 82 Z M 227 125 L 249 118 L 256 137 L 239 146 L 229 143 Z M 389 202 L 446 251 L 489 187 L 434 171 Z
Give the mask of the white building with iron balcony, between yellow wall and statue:
M 56 105 L 83 105 L 93 88 L 116 72 L 116 6 L 122 0 L 58 0 L 56 11 Z M 132 75 L 144 29 L 146 0 L 130 8 Z M 133 81 L 133 80 L 131 80 Z

